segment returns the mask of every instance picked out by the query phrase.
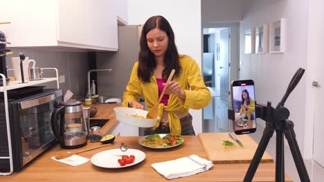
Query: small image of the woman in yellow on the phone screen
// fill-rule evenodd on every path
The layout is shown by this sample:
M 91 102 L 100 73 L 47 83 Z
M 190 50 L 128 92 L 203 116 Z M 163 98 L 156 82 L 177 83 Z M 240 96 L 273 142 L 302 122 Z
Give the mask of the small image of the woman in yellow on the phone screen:
M 240 116 L 244 114 L 244 119 L 254 120 L 254 112 L 255 112 L 255 101 L 250 99 L 249 91 L 244 89 L 242 90 L 242 103 Z

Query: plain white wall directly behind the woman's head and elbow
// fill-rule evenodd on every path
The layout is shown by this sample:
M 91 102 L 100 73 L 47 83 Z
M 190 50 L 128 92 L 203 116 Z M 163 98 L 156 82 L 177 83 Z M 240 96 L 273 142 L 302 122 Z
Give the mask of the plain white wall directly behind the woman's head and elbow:
M 180 54 L 195 59 L 201 68 L 201 2 L 200 0 L 128 0 L 128 24 L 144 24 L 154 16 L 168 19 Z M 201 110 L 190 110 L 196 134 L 201 132 Z

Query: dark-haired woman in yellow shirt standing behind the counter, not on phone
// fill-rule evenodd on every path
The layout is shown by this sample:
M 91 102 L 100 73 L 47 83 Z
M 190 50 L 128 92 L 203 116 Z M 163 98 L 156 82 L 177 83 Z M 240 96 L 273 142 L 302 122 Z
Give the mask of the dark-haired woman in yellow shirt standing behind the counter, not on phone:
M 148 19 L 141 32 L 138 62 L 123 96 L 123 106 L 144 109 L 138 103 L 141 95 L 150 110 L 159 103 L 160 120 L 153 128 L 145 128 L 145 135 L 171 133 L 195 135 L 188 109 L 199 110 L 210 102 L 210 91 L 204 85 L 200 68 L 188 56 L 179 55 L 169 22 L 161 16 Z M 171 70 L 176 70 L 172 81 L 166 83 Z

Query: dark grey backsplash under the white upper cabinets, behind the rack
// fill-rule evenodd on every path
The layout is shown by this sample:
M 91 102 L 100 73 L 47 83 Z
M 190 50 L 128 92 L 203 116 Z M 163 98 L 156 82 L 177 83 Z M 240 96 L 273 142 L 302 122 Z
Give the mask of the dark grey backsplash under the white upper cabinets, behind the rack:
M 19 57 L 23 52 L 29 59 L 36 61 L 35 67 L 57 68 L 59 76 L 64 75 L 65 82 L 60 83 L 64 94 L 67 89 L 74 95 L 87 93 L 87 72 L 89 70 L 88 52 L 63 52 L 51 50 L 11 49 L 14 54 L 7 57 L 7 66 L 12 68 L 11 57 Z M 31 65 L 31 64 L 30 64 Z M 14 77 L 13 71 L 8 70 L 8 76 Z M 43 77 L 55 77 L 55 71 L 45 70 Z M 44 83 L 49 88 L 56 88 L 56 83 Z

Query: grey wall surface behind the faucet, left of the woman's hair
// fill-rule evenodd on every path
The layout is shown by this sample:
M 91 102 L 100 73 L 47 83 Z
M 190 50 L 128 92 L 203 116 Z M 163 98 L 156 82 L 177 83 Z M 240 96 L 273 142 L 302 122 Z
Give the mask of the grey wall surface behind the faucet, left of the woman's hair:
M 98 72 L 98 94 L 123 99 L 134 63 L 138 59 L 140 26 L 118 27 L 118 52 L 96 52 L 98 69 L 111 68 L 111 72 Z

